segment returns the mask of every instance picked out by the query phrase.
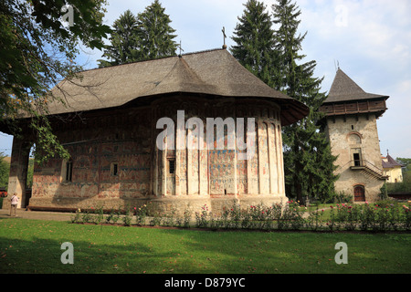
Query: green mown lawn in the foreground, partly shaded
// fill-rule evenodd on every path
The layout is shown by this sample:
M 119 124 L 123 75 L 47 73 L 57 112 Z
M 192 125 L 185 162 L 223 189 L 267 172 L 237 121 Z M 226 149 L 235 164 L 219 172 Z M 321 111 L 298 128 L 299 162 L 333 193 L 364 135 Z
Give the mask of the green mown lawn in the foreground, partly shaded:
M 74 264 L 60 246 L 71 242 Z M 348 246 L 337 265 L 334 245 Z M 264 233 L 0 220 L 0 273 L 410 273 L 410 234 Z

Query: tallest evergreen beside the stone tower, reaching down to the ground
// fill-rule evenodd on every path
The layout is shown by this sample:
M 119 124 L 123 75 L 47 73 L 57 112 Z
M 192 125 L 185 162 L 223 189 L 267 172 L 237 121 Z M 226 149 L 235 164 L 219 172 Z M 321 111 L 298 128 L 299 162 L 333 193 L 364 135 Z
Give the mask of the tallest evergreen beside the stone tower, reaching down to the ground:
M 291 0 L 277 0 L 272 8 L 273 22 L 278 26 L 274 36 L 281 72 L 276 89 L 310 108 L 308 117 L 283 128 L 287 193 L 301 202 L 303 194 L 326 201 L 333 193 L 336 157 L 332 156 L 330 144 L 317 125 L 322 117 L 321 103 L 327 98 L 320 92 L 323 78 L 313 77 L 315 61 L 302 62 L 306 56 L 299 51 L 307 33 L 298 33 L 298 6 Z

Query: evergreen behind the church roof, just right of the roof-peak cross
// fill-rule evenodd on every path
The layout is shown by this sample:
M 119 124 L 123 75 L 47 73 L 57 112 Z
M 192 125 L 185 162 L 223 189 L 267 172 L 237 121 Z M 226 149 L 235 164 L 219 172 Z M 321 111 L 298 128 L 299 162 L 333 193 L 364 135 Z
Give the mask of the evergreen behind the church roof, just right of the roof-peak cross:
M 274 31 L 267 6 L 256 0 L 248 0 L 244 14 L 237 17 L 239 23 L 231 38 L 237 45 L 230 47 L 234 57 L 250 72 L 273 87 L 276 83 L 276 58 Z

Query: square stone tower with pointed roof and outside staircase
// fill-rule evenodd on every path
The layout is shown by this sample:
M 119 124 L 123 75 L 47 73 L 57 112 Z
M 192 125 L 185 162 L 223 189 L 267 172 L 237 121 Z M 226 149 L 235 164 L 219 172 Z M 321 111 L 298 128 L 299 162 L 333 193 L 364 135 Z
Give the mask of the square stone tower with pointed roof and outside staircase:
M 338 68 L 329 97 L 321 106 L 332 154 L 338 156 L 335 173 L 340 177 L 335 192 L 353 195 L 354 202 L 378 200 L 386 180 L 376 125 L 387 110 L 386 99 L 365 92 Z

